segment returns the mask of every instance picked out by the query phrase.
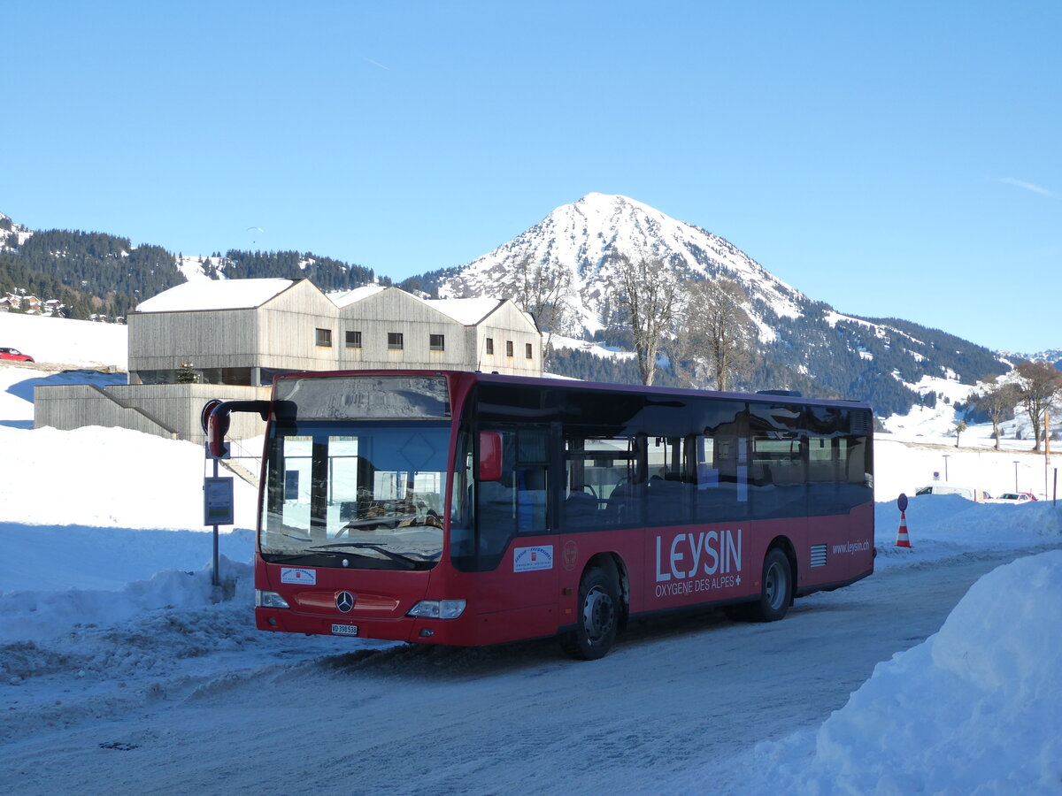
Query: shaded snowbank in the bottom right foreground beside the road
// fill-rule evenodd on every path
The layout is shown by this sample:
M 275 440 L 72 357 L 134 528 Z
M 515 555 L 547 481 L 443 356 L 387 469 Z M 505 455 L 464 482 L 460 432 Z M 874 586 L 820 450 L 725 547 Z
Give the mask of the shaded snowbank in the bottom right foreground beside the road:
M 820 729 L 757 745 L 743 792 L 1059 793 L 1059 627 L 1062 551 L 999 567 Z M 684 785 L 713 781 L 700 772 Z

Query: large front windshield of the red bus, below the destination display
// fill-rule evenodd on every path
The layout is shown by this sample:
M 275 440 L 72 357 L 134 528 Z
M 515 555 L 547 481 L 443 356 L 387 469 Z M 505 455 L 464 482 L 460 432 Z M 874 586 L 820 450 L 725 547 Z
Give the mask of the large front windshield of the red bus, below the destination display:
M 428 569 L 443 549 L 448 423 L 282 423 L 266 457 L 267 561 Z

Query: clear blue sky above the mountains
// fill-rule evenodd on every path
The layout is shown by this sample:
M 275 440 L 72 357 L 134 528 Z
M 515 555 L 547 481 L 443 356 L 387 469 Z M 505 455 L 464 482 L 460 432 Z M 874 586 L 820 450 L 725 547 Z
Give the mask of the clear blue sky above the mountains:
M 1062 3 L 21 0 L 0 27 L 0 211 L 34 229 L 397 280 L 620 193 L 841 312 L 1062 346 Z

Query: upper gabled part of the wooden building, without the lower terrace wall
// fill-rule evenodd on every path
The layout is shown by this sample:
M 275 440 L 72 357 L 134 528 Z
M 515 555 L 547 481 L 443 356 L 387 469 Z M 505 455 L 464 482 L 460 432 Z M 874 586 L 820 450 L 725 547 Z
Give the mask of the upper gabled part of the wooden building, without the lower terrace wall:
M 130 383 L 271 384 L 280 373 L 451 368 L 542 375 L 542 334 L 508 299 L 398 288 L 335 298 L 308 279 L 189 282 L 127 317 Z

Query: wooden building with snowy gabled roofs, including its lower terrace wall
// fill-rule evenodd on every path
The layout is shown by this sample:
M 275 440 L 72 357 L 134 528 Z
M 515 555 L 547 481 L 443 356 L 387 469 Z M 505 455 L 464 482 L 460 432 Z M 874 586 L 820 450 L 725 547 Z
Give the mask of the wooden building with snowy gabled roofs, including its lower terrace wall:
M 542 376 L 542 334 L 509 299 L 427 300 L 372 285 L 333 297 L 308 279 L 187 282 L 137 307 L 129 384 L 41 386 L 34 426 L 118 426 L 202 442 L 211 397 L 268 398 L 274 376 L 377 368 Z M 254 415 L 230 435 L 262 433 Z

